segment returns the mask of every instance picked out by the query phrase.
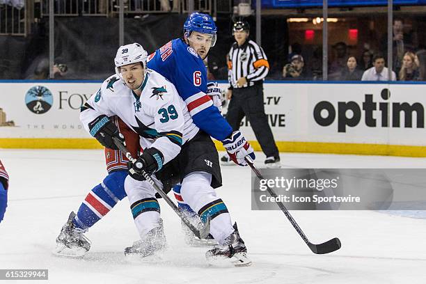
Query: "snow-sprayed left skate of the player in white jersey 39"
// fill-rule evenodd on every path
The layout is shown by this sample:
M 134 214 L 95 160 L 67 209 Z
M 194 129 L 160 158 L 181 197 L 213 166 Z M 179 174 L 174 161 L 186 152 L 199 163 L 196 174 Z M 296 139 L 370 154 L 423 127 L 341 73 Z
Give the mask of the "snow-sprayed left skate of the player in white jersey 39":
M 143 239 L 125 248 L 125 255 L 146 258 L 164 251 L 166 247 L 167 242 L 166 235 L 164 235 L 163 220 L 160 219 L 158 226 L 150 230 Z

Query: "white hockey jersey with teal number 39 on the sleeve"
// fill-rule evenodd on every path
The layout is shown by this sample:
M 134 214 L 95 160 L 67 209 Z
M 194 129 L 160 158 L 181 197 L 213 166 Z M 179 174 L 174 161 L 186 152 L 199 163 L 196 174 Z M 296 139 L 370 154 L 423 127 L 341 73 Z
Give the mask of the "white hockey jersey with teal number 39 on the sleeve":
M 175 86 L 159 73 L 148 69 L 141 88 L 139 97 L 117 75 L 109 77 L 81 107 L 80 120 L 90 133 L 88 125 L 97 117 L 120 117 L 141 136 L 142 148 L 155 147 L 166 164 L 199 129 Z

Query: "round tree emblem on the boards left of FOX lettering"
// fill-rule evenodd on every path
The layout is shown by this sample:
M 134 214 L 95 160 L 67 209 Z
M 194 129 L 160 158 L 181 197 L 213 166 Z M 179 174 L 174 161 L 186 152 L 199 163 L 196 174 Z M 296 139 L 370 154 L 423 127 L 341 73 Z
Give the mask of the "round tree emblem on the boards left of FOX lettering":
M 34 86 L 26 92 L 25 104 L 33 113 L 46 113 L 53 104 L 52 92 L 46 87 Z

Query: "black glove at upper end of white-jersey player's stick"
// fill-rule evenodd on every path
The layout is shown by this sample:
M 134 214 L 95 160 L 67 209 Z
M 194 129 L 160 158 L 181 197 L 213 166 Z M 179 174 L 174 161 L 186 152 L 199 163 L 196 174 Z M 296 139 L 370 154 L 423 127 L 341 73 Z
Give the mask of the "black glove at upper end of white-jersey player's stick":
M 118 132 L 117 126 L 109 119 L 108 116 L 98 116 L 88 125 L 90 129 L 90 135 L 95 137 L 99 143 L 109 149 L 118 150 L 118 147 L 113 141 L 113 137 L 117 137 L 121 142 L 125 143 L 123 134 Z

